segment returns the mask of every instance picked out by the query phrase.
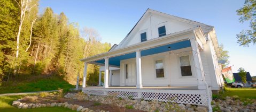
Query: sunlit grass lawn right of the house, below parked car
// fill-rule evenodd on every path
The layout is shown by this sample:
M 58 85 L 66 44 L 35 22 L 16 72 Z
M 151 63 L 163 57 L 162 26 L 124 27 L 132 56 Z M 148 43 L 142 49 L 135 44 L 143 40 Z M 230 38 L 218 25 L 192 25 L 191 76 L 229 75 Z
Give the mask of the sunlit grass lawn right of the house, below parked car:
M 242 99 L 256 99 L 256 88 L 226 88 L 224 96 L 238 96 Z

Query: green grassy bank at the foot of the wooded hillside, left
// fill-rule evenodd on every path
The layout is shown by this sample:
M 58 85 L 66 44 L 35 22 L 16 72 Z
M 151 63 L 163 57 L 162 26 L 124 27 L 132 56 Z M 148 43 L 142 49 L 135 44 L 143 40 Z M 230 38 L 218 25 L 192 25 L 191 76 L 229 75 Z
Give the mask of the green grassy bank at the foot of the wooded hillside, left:
M 69 90 L 75 88 L 60 77 L 53 76 L 48 79 L 40 79 L 34 81 L 11 81 L 9 85 L 0 86 L 1 93 L 17 93 L 17 92 L 33 92 L 33 91 L 50 91 L 58 88 Z

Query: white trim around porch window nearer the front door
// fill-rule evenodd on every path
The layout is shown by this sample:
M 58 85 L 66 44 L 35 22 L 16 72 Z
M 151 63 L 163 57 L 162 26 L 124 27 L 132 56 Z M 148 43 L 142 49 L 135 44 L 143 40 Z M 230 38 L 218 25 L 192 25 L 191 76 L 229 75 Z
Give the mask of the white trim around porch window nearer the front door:
M 159 61 L 159 60 L 162 60 L 162 64 L 164 65 L 164 77 L 157 77 L 157 72 L 156 72 L 156 61 Z M 165 56 L 158 56 L 158 57 L 155 57 L 153 58 L 153 64 L 154 64 L 154 79 L 156 80 L 163 80 L 163 79 L 166 79 L 166 66 L 165 66 Z

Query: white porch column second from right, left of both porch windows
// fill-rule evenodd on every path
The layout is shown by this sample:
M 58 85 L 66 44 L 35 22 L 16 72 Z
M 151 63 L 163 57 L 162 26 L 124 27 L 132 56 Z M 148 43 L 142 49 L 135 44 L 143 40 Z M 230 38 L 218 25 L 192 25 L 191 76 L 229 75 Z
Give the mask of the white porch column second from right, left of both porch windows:
M 136 51 L 136 73 L 137 73 L 137 85 L 136 88 L 142 88 L 142 76 L 141 76 L 141 50 Z

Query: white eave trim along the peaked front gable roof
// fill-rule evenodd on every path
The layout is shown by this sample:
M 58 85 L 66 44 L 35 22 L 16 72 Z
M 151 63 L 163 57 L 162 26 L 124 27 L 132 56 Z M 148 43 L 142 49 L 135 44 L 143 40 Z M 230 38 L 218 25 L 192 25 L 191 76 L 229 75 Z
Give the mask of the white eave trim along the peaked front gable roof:
M 152 10 L 150 8 L 148 8 L 146 10 L 146 12 L 142 15 L 142 17 L 138 20 L 138 22 L 134 25 L 134 27 L 130 30 L 130 32 L 127 34 L 127 36 L 120 42 L 120 45 L 123 44 L 123 42 L 125 40 L 127 40 L 127 38 L 129 37 L 130 33 L 137 27 L 137 25 L 143 21 L 146 17 L 146 15 L 150 15 L 150 13 L 153 13 L 153 14 L 158 14 L 158 15 L 162 15 L 162 16 L 166 16 L 167 18 L 172 18 L 172 19 L 175 19 L 177 21 L 183 21 L 183 22 L 187 22 L 187 23 L 190 23 L 190 24 L 194 24 L 194 25 L 197 25 L 197 26 L 200 26 L 202 28 L 206 28 L 206 29 L 213 29 L 214 27 L 211 26 L 211 25 L 207 25 L 207 24 L 204 24 L 204 23 L 200 23 L 200 22 L 197 22 L 197 21 L 192 21 L 192 20 L 189 20 L 189 19 L 184 19 L 184 18 L 180 18 L 178 16 L 174 16 L 174 15 L 170 15 L 170 14 L 166 14 L 166 13 L 162 13 L 162 12 L 159 12 L 159 11 L 155 11 L 155 10 Z

